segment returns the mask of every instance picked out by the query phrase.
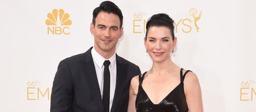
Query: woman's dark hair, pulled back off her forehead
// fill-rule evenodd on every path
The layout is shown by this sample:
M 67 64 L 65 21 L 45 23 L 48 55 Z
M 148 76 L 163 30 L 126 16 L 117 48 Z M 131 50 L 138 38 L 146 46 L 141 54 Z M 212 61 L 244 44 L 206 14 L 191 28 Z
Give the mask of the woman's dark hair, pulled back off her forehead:
M 147 36 L 148 36 L 148 29 L 150 27 L 167 27 L 170 29 L 170 33 L 172 34 L 173 36 L 173 40 L 175 38 L 174 36 L 174 26 L 173 26 L 173 19 L 169 17 L 169 15 L 167 14 L 163 14 L 163 13 L 160 13 L 160 14 L 155 14 L 153 16 L 151 16 L 147 22 L 147 25 L 146 25 L 146 40 L 147 40 Z

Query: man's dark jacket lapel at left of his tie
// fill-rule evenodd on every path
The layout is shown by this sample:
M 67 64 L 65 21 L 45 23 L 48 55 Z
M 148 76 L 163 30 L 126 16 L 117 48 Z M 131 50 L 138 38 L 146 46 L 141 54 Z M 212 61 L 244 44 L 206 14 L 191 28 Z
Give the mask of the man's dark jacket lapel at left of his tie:
M 92 57 L 92 50 L 93 47 L 91 47 L 86 53 L 84 53 L 84 59 L 82 67 L 85 69 L 83 72 L 84 75 L 86 75 L 86 82 L 89 85 L 89 91 L 92 93 L 94 100 L 97 104 L 99 104 L 99 108 L 103 110 L 103 104 L 101 100 L 101 94 L 100 94 L 100 86 L 97 80 L 97 75 L 95 71 L 95 66 L 93 63 L 93 57 Z

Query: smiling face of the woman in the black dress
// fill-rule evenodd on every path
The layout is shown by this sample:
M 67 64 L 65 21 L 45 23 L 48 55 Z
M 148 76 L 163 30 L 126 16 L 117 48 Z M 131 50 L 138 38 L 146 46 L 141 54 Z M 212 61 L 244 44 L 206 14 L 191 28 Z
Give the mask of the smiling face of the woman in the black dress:
M 150 27 L 147 40 L 144 39 L 145 48 L 150 57 L 156 63 L 170 59 L 170 53 L 176 46 L 176 38 L 172 40 L 172 34 L 167 27 Z

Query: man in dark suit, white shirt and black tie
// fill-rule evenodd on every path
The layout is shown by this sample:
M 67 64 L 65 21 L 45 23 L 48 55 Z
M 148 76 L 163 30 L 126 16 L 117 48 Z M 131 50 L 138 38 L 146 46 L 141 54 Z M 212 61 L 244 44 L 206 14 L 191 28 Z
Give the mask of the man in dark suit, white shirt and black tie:
M 114 3 L 105 1 L 94 9 L 90 24 L 94 47 L 60 61 L 53 81 L 51 112 L 127 111 L 130 80 L 141 71 L 115 54 L 123 35 L 122 24 L 123 14 Z

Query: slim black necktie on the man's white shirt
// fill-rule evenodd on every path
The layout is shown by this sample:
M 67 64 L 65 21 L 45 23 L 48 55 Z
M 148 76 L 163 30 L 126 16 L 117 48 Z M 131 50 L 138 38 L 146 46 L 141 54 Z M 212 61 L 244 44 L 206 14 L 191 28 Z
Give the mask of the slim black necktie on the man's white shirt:
M 103 96 L 102 102 L 104 107 L 104 112 L 109 112 L 109 90 L 110 90 L 110 72 L 108 66 L 110 64 L 109 60 L 104 61 L 104 72 L 103 72 Z

